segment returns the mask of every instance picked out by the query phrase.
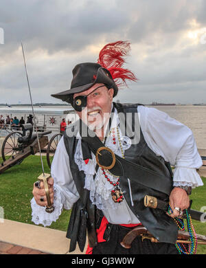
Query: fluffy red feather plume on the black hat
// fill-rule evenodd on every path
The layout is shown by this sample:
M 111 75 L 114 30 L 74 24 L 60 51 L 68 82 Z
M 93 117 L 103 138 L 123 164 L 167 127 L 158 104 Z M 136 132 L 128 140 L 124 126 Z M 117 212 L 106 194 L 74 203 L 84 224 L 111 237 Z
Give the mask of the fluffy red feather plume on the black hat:
M 104 45 L 99 54 L 98 63 L 110 71 L 118 87 L 126 85 L 126 80 L 137 81 L 132 71 L 123 68 L 124 57 L 128 56 L 129 51 L 130 43 L 128 41 L 117 41 Z

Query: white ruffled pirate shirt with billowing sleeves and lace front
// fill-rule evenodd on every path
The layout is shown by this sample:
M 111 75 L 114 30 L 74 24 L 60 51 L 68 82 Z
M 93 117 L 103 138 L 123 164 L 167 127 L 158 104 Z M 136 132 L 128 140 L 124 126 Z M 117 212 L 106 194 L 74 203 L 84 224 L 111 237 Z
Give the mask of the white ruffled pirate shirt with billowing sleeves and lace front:
M 203 165 L 203 161 L 198 154 L 192 131 L 187 126 L 170 118 L 166 113 L 154 108 L 139 106 L 138 115 L 141 131 L 150 149 L 174 166 L 174 186 L 183 185 L 192 186 L 192 188 L 203 186 L 203 181 L 196 172 L 196 168 L 200 168 Z M 119 118 L 115 110 L 115 115 L 111 122 L 111 129 L 115 131 L 115 136 L 117 136 L 116 129 L 118 124 Z M 119 144 L 119 139 L 117 138 L 115 139 L 116 144 L 113 144 L 112 135 L 108 135 L 105 146 L 111 148 L 115 154 L 121 157 L 121 146 L 124 152 L 124 150 L 129 148 L 129 145 L 128 139 L 122 135 L 121 130 L 119 128 L 117 130 L 119 131 L 121 144 Z M 125 199 L 121 203 L 113 202 L 111 190 L 115 187 L 105 179 L 101 168 L 95 172 L 96 161 L 93 154 L 93 158 L 89 159 L 88 164 L 85 164 L 82 158 L 80 135 L 77 135 L 77 138 L 79 140 L 74 159 L 78 168 L 84 171 L 84 188 L 90 190 L 90 199 L 93 204 L 102 210 L 110 223 L 139 223 L 139 219 L 130 210 Z M 125 139 L 127 141 L 126 145 L 124 145 Z M 56 148 L 52 161 L 51 175 L 54 178 L 54 212 L 48 214 L 45 212 L 44 207 L 36 204 L 34 198 L 31 201 L 32 221 L 44 226 L 51 225 L 52 221 L 58 219 L 63 208 L 70 210 L 73 203 L 76 203 L 79 199 L 79 194 L 69 168 L 69 155 L 67 154 L 63 138 L 60 139 Z M 95 179 L 93 179 L 93 175 L 95 175 Z M 111 174 L 106 175 L 108 175 L 111 181 L 117 181 L 117 178 L 111 176 Z M 130 187 L 129 179 L 128 185 Z M 130 199 L 131 203 L 133 203 L 131 193 Z

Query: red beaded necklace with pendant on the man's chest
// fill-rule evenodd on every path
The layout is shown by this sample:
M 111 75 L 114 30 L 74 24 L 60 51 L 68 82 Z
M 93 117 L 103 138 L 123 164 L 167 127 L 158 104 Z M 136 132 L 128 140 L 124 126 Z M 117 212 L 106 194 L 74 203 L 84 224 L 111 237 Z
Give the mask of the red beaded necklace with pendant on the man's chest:
M 117 137 L 118 137 L 118 141 L 119 141 L 119 146 L 120 146 L 121 153 L 122 153 L 122 158 L 124 158 L 124 150 L 122 148 L 122 144 L 121 144 L 121 140 L 120 140 L 119 129 L 118 129 L 118 127 L 116 129 L 117 129 Z M 108 136 L 111 134 L 112 134 L 113 144 L 116 144 L 117 142 L 116 142 L 115 128 L 112 128 L 111 131 L 109 131 Z M 122 202 L 124 200 L 124 197 L 123 197 L 122 190 L 119 188 L 119 177 L 111 174 L 111 172 L 109 172 L 108 170 L 104 170 L 104 168 L 102 168 L 102 175 L 104 175 L 106 180 L 109 183 L 113 184 L 113 186 L 115 187 L 115 190 L 111 191 L 113 201 L 115 203 Z M 110 175 L 112 177 L 116 177 L 117 181 L 116 182 L 111 181 L 111 179 L 108 177 L 108 175 Z

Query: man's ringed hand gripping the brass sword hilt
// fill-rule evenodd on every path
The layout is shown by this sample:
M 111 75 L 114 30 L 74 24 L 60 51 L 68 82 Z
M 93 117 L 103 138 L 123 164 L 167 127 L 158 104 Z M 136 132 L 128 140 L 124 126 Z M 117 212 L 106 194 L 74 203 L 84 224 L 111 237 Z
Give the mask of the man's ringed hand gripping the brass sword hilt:
M 53 204 L 54 202 L 54 179 L 51 177 L 47 180 L 48 187 L 49 187 L 49 197 L 50 201 Z M 40 188 L 35 186 L 34 183 L 34 188 L 32 191 L 32 194 L 34 195 L 34 199 L 38 205 L 45 206 L 47 205 L 47 197 L 46 197 L 46 192 L 45 192 L 45 187 L 43 181 L 40 183 Z M 43 201 L 41 201 L 43 199 Z

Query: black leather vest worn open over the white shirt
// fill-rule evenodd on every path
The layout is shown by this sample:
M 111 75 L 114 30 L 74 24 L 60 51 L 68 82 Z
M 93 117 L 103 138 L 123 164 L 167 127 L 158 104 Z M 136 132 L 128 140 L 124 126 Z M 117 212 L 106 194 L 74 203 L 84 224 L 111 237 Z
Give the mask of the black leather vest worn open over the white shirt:
M 119 115 L 121 113 L 125 116 L 127 113 L 137 113 L 137 107 L 139 105 L 113 104 L 117 109 L 117 113 Z M 132 124 L 135 124 L 134 122 L 135 121 L 133 120 Z M 80 194 L 80 199 L 73 205 L 67 231 L 67 238 L 71 239 L 69 252 L 72 252 L 76 249 L 76 242 L 78 242 L 80 250 L 84 250 L 86 233 L 88 233 L 89 245 L 91 247 L 97 245 L 97 238 L 95 235 L 95 223 L 97 222 L 97 219 L 95 214 L 95 205 L 92 205 L 89 199 L 89 191 L 84 189 L 84 172 L 78 170 L 78 166 L 76 165 L 73 157 L 76 152 L 76 145 L 78 142 L 76 139 L 78 128 L 75 125 L 70 126 L 70 128 L 73 131 L 73 136 L 69 137 L 68 135 L 64 135 L 65 147 L 69 155 L 71 174 L 73 175 L 76 188 Z M 163 157 L 155 155 L 155 153 L 146 144 L 141 128 L 139 130 L 139 143 L 132 144 L 128 150 L 125 150 L 125 158 L 133 161 L 135 164 L 139 164 L 170 178 L 169 181 L 172 190 L 172 170 L 170 168 L 170 164 L 165 162 Z M 159 240 L 159 242 L 175 243 L 177 237 L 177 226 L 174 223 L 174 220 L 170 216 L 166 215 L 162 210 L 146 208 L 144 206 L 144 197 L 146 194 L 158 197 L 164 201 L 168 201 L 168 195 L 152 188 L 142 186 L 138 183 L 138 178 L 137 182 L 132 180 L 128 181 L 128 179 L 129 178 L 126 177 L 120 177 L 119 182 L 122 190 L 126 192 L 124 194 L 124 198 L 126 199 L 130 210 L 138 217 L 139 221 L 141 221 L 148 231 Z M 152 176 L 150 179 L 152 179 Z

